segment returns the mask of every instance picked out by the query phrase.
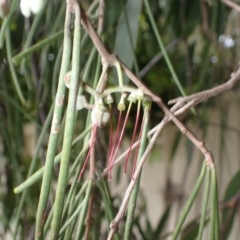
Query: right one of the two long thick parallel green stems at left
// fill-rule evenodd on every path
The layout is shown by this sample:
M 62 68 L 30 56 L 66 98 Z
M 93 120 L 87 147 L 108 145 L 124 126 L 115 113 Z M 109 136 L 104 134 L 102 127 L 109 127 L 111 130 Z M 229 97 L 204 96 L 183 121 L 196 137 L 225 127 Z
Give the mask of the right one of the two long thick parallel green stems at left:
M 77 1 L 72 2 L 72 7 L 75 13 L 74 22 L 74 39 L 72 52 L 72 71 L 71 84 L 68 98 L 66 123 L 64 129 L 63 150 L 61 157 L 61 165 L 59 172 L 59 180 L 56 190 L 56 199 L 54 204 L 51 239 L 58 239 L 63 203 L 65 197 L 65 189 L 68 180 L 68 167 L 71 155 L 71 145 L 75 126 L 76 100 L 78 93 L 78 79 L 80 73 L 80 39 L 81 39 L 81 24 L 80 24 L 80 7 Z M 68 6 L 67 6 L 68 8 Z

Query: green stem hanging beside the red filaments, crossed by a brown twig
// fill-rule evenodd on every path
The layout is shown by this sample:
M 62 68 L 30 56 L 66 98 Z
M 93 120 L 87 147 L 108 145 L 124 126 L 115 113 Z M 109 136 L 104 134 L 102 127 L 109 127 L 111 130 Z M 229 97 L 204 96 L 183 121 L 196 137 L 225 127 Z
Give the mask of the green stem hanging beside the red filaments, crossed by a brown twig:
M 142 155 L 144 154 L 145 148 L 146 148 L 147 133 L 148 133 L 148 129 L 149 129 L 150 109 L 151 109 L 151 104 L 148 104 L 144 107 L 144 117 L 143 117 L 143 123 L 142 123 L 143 130 L 142 130 L 142 136 L 141 136 L 141 140 L 140 140 L 137 161 L 139 161 L 141 159 Z M 137 204 L 137 196 L 138 196 L 140 179 L 141 179 L 141 172 L 139 174 L 138 179 L 136 180 L 136 185 L 133 189 L 133 192 L 132 192 L 130 200 L 129 200 L 124 240 L 130 240 L 132 237 L 134 212 L 135 212 L 135 208 L 136 208 L 136 204 Z

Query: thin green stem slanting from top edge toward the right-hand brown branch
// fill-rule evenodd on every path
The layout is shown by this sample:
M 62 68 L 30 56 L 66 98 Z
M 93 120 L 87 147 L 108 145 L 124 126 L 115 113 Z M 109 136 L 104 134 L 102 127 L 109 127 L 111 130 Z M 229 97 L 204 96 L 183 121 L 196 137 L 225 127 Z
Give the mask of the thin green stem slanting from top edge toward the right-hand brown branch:
M 153 31 L 154 31 L 155 36 L 156 36 L 156 38 L 157 38 L 159 47 L 160 47 L 160 49 L 161 49 L 161 51 L 162 51 L 162 53 L 163 53 L 163 56 L 164 56 L 164 59 L 165 59 L 165 61 L 166 61 L 166 63 L 167 63 L 167 66 L 168 66 L 168 68 L 169 68 L 169 71 L 170 71 L 171 74 L 172 74 L 173 80 L 174 80 L 175 84 L 177 85 L 177 87 L 178 87 L 179 91 L 181 92 L 181 94 L 182 94 L 183 96 L 186 96 L 186 93 L 184 92 L 183 87 L 182 87 L 182 85 L 181 85 L 181 83 L 180 83 L 180 81 L 179 81 L 179 79 L 178 79 L 178 77 L 177 77 L 177 74 L 175 73 L 175 70 L 174 70 L 174 68 L 173 68 L 173 66 L 172 66 L 172 63 L 171 63 L 171 61 L 170 61 L 170 59 L 169 59 L 169 57 L 168 57 L 167 51 L 166 51 L 166 49 L 165 49 L 165 47 L 164 47 L 164 44 L 163 44 L 163 42 L 162 42 L 162 38 L 161 38 L 161 36 L 160 36 L 160 34 L 159 34 L 159 32 L 158 32 L 157 25 L 156 25 L 156 23 L 155 23 L 155 21 L 154 21 L 154 19 L 153 19 L 152 11 L 151 11 L 151 9 L 150 9 L 148 0 L 144 0 L 144 4 L 145 4 L 145 7 L 146 7 L 146 9 L 147 9 L 148 17 L 149 17 L 149 19 L 150 19 L 150 22 L 151 22 Z

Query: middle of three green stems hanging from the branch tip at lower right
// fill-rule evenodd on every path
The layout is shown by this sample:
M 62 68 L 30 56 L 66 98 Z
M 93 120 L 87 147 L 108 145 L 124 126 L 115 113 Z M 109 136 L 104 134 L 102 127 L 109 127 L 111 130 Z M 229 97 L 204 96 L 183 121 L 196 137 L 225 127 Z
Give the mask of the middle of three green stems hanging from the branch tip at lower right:
M 205 180 L 205 189 L 204 189 L 204 197 L 203 197 L 203 204 L 202 204 L 202 211 L 201 211 L 201 220 L 198 230 L 198 238 L 197 240 L 202 239 L 203 235 L 203 229 L 205 225 L 205 219 L 206 219 L 206 213 L 207 213 L 207 205 L 208 205 L 208 197 L 209 197 L 209 188 L 210 188 L 210 182 L 211 182 L 211 175 L 210 175 L 210 169 L 207 167 L 207 173 L 206 173 L 206 180 Z

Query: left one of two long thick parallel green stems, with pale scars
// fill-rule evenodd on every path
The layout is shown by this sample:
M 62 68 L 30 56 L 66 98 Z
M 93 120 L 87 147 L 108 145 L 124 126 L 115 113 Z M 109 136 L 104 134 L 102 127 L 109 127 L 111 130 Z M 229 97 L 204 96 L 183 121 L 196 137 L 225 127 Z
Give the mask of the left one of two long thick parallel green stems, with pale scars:
M 35 239 L 43 238 L 43 227 L 44 221 L 43 214 L 45 212 L 48 195 L 51 186 L 51 178 L 52 178 L 52 169 L 54 164 L 54 157 L 56 153 L 58 133 L 60 128 L 60 122 L 62 118 L 62 110 L 63 110 L 63 99 L 65 96 L 65 84 L 64 84 L 64 76 L 66 75 L 69 69 L 70 63 L 70 55 L 71 55 L 71 32 L 70 32 L 70 24 L 71 24 L 71 13 L 70 10 L 66 10 L 66 19 L 65 19 L 65 27 L 64 27 L 64 43 L 63 43 L 63 57 L 62 64 L 59 76 L 58 90 L 55 100 L 55 107 L 53 113 L 52 127 L 51 133 L 49 137 L 48 150 L 46 163 L 43 173 L 43 180 L 41 186 L 41 192 L 38 203 L 37 217 L 36 217 L 36 231 L 35 231 Z

